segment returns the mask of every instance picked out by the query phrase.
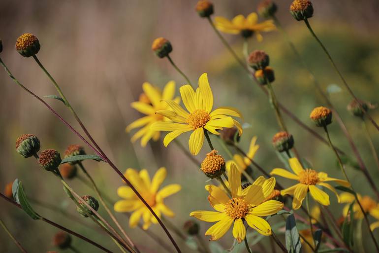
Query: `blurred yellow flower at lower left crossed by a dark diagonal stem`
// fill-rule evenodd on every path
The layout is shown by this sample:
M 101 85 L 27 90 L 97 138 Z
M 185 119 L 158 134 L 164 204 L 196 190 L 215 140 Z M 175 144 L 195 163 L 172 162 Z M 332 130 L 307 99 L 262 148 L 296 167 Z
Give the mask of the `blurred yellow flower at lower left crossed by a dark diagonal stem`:
M 174 212 L 163 203 L 163 199 L 177 193 L 182 188 L 179 184 L 169 184 L 159 190 L 160 185 L 166 178 L 166 174 L 167 172 L 164 167 L 158 169 L 152 181 L 150 181 L 150 176 L 146 169 L 142 169 L 138 173 L 136 170 L 129 168 L 124 174 L 126 179 L 137 189 L 158 217 L 161 217 L 162 214 L 168 217 L 174 216 Z M 151 223 L 158 223 L 158 220 L 150 213 L 149 209 L 130 187 L 119 187 L 117 194 L 121 198 L 124 198 L 124 200 L 117 201 L 114 205 L 114 210 L 120 213 L 133 212 L 129 218 L 130 227 L 136 227 L 141 217 L 144 222 L 143 229 L 148 229 Z

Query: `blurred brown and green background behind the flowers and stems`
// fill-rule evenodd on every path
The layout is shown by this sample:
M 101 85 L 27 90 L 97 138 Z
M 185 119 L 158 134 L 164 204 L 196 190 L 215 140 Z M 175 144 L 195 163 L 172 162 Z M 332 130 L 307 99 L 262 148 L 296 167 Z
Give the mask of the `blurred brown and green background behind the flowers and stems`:
M 246 16 L 256 11 L 258 3 L 248 0 L 213 2 L 214 16 L 226 18 L 237 14 Z M 198 169 L 176 145 L 171 144 L 164 148 L 160 140 L 157 143 L 150 142 L 150 145 L 142 148 L 139 141 L 132 145 L 130 136 L 125 132 L 126 125 L 141 116 L 130 108 L 130 103 L 138 100 L 144 81 L 162 88 L 169 80 L 174 80 L 177 92 L 179 86 L 185 84 L 185 80 L 175 72 L 167 59 L 158 59 L 151 51 L 151 43 L 156 37 L 163 36 L 171 41 L 171 57 L 193 83 L 197 82 L 201 73 L 208 72 L 215 107 L 233 106 L 242 111 L 248 127 L 241 138 L 240 146 L 247 150 L 251 138 L 257 136 L 260 148 L 255 161 L 267 171 L 283 167 L 271 145 L 271 138 L 279 128 L 267 97 L 252 84 L 246 73 L 225 50 L 208 22 L 199 18 L 194 11 L 195 3 L 195 0 L 0 1 L 0 38 L 3 43 L 1 59 L 11 72 L 39 96 L 57 94 L 33 59 L 23 58 L 14 49 L 15 41 L 21 34 L 32 33 L 37 36 L 41 44 L 38 58 L 61 85 L 71 105 L 111 160 L 122 171 L 129 167 L 146 168 L 151 176 L 160 166 L 165 166 L 168 176 L 164 184 L 182 184 L 183 189 L 166 200 L 166 204 L 176 213 L 171 220 L 178 227 L 182 227 L 189 218 L 190 211 L 210 210 L 204 189 L 207 178 L 197 172 Z M 290 3 L 290 0 L 277 2 L 277 17 L 324 91 L 328 87 L 334 87 L 329 89 L 333 91 L 329 94 L 330 99 L 340 112 L 372 178 L 378 183 L 379 168 L 371 154 L 361 120 L 346 110 L 351 100 L 349 94 L 304 23 L 296 22 L 290 16 Z M 355 94 L 363 100 L 378 102 L 378 1 L 317 0 L 314 8 L 314 17 L 310 19 L 310 23 L 329 49 Z M 299 63 L 279 31 L 262 35 L 262 42 L 251 38 L 249 48 L 262 49 L 270 55 L 270 65 L 276 75 L 273 86 L 278 100 L 305 124 L 323 135 L 322 130 L 316 129 L 309 119 L 311 110 L 325 103 L 313 86 L 308 72 Z M 242 57 L 241 36 L 224 37 Z M 15 151 L 17 137 L 27 133 L 39 137 L 41 149 L 55 148 L 63 152 L 67 145 L 84 144 L 42 104 L 16 86 L 5 72 L 0 72 L 0 83 L 0 188 L 15 178 L 20 179 L 28 196 L 34 200 L 32 206 L 38 213 L 85 234 L 112 251 L 117 251 L 108 237 L 93 229 L 91 220 L 78 216 L 73 203 L 68 200 L 52 174 L 43 171 L 34 158 L 24 159 Z M 341 91 L 338 91 L 336 85 L 342 88 Z M 46 102 L 79 129 L 62 103 L 49 99 Z M 371 114 L 378 122 L 378 111 L 372 111 Z M 316 170 L 342 178 L 330 149 L 288 117 L 284 116 L 284 119 L 301 156 Z M 368 125 L 377 147 L 378 132 Z M 332 124 L 329 129 L 333 142 L 353 157 L 338 124 Z M 189 135 L 184 134 L 179 140 L 188 147 L 188 138 Z M 214 144 L 221 154 L 225 154 L 216 140 Z M 86 150 L 91 153 L 89 148 L 86 147 Z M 204 144 L 196 159 L 202 160 L 207 151 Z M 86 161 L 85 166 L 102 191 L 114 201 L 120 199 L 116 190 L 123 182 L 109 166 L 93 161 Z M 347 171 L 360 193 L 374 197 L 361 172 L 353 167 L 347 167 Z M 259 175 L 259 172 L 254 173 L 255 176 Z M 279 181 L 290 185 L 290 181 Z M 77 179 L 70 181 L 70 184 L 82 195 L 95 195 Z M 330 196 L 331 202 L 336 203 L 335 197 L 331 194 Z M 53 205 L 58 211 L 46 208 L 44 203 Z M 0 200 L 0 206 L 1 219 L 29 252 L 41 253 L 55 249 L 52 237 L 58 229 L 42 221 L 32 220 L 3 200 Z M 332 204 L 331 208 L 335 217 L 340 217 L 343 205 Z M 106 214 L 101 207 L 99 212 L 104 216 Z M 142 251 L 163 251 L 139 228 L 128 228 L 128 220 L 124 214 L 117 214 L 117 217 Z M 201 222 L 200 225 L 203 234 L 210 223 Z M 162 240 L 168 242 L 157 225 L 153 225 L 151 231 L 160 234 Z M 365 226 L 363 232 L 366 235 Z M 375 232 L 379 238 L 378 231 Z M 363 238 L 367 238 L 364 241 L 366 252 L 374 252 L 370 239 L 367 236 Z M 186 248 L 179 238 L 177 241 L 185 252 L 194 252 Z M 232 241 L 230 232 L 219 244 L 228 249 Z M 73 245 L 81 252 L 99 252 L 77 238 L 73 238 Z M 269 241 L 263 240 L 262 245 L 268 247 Z M 260 252 L 255 246 L 253 250 Z M 241 248 L 241 251 L 246 249 Z M 3 230 L 0 230 L 0 252 L 18 252 Z

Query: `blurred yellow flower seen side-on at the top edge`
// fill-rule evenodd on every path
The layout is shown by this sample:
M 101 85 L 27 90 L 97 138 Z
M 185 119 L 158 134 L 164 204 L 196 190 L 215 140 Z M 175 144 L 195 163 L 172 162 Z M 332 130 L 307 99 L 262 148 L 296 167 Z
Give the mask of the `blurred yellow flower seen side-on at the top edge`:
M 215 17 L 215 26 L 227 34 L 241 34 L 244 37 L 255 34 L 258 41 L 263 39 L 260 32 L 275 30 L 273 20 L 258 23 L 258 15 L 255 12 L 250 13 L 246 18 L 243 15 L 235 16 L 231 21 L 224 17 Z

